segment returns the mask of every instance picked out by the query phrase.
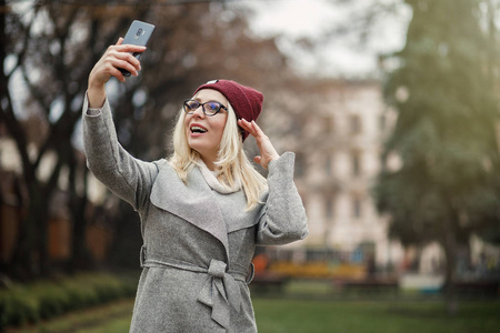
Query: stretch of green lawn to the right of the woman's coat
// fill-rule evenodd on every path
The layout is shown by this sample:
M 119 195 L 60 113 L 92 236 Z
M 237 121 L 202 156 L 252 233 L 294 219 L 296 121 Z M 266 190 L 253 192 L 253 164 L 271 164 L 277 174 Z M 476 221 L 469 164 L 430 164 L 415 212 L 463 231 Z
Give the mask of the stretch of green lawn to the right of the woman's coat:
M 500 331 L 500 302 L 462 302 L 456 316 L 441 302 L 254 300 L 260 333 L 489 333 Z

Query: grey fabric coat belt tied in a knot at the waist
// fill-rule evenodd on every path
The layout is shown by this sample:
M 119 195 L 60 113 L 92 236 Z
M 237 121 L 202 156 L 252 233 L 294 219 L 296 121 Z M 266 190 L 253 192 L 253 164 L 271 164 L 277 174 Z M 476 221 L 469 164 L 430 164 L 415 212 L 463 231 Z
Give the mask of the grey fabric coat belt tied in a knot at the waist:
M 174 259 L 168 259 L 167 261 L 152 260 L 148 259 L 146 246 L 141 248 L 140 259 L 142 268 L 170 266 L 197 273 L 207 273 L 209 279 L 198 294 L 197 301 L 210 306 L 212 309 L 212 320 L 226 330 L 230 326 L 230 307 L 240 312 L 241 292 L 237 281 L 250 283 L 251 279 L 246 279 L 246 273 L 228 271 L 228 266 L 223 261 L 212 259 L 209 268 L 206 269 Z M 253 275 L 252 266 L 251 275 Z

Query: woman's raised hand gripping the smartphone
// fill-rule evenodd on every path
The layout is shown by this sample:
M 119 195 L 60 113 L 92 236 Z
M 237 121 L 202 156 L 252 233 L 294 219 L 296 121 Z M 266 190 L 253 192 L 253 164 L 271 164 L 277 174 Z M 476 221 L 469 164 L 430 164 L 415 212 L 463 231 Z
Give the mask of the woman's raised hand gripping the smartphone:
M 139 74 L 138 71 L 141 69 L 140 62 L 131 52 L 143 52 L 146 48 L 132 44 L 122 46 L 122 42 L 123 39 L 120 38 L 117 44 L 109 47 L 90 72 L 88 87 L 90 108 L 102 107 L 106 99 L 104 85 L 111 77 L 117 78 L 121 82 L 126 81 L 120 69 L 128 70 L 134 77 Z

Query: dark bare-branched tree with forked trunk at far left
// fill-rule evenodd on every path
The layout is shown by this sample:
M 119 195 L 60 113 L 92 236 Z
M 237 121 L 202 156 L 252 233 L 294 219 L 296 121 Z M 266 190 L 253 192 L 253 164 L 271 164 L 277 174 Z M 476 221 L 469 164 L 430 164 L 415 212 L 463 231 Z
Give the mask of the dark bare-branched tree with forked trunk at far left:
M 0 59 L 0 121 L 7 124 L 16 141 L 28 190 L 27 214 L 20 223 L 10 265 L 14 276 L 24 279 L 50 273 L 49 208 L 64 169 L 73 218 L 73 260 L 84 255 L 87 170 L 71 137 L 81 117 L 87 75 L 101 52 L 98 49 L 112 42 L 112 28 L 126 27 L 129 21 L 123 14 L 114 20 L 102 17 L 90 20 L 93 11 L 82 11 L 68 3 L 28 4 L 19 8 L 17 3 L 2 1 Z M 83 36 L 87 32 L 83 40 L 82 32 Z M 10 68 L 4 68 L 7 63 Z M 19 100 L 19 89 L 27 91 L 20 105 L 14 103 Z M 33 123 L 27 119 L 34 120 L 34 129 L 26 125 Z M 54 165 L 47 178 L 41 178 L 41 165 L 47 159 L 52 159 Z M 78 184 L 83 188 L 79 190 Z

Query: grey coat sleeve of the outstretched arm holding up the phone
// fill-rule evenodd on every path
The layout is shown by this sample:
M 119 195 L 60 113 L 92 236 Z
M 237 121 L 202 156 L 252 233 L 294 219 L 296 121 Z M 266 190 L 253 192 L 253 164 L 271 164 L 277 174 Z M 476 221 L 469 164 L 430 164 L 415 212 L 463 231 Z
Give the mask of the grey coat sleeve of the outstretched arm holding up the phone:
M 114 194 L 140 210 L 149 199 L 159 163 L 140 161 L 121 147 L 108 99 L 100 112 L 88 111 L 86 94 L 82 131 L 88 168 Z

